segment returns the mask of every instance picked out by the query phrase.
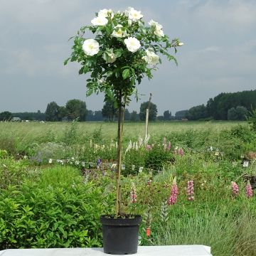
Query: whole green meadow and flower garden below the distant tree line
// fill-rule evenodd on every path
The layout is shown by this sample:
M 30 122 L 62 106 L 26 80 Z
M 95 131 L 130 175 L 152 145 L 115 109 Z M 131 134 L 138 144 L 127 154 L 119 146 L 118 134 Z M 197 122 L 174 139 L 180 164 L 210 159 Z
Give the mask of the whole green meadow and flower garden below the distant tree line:
M 123 210 L 142 215 L 140 244 L 256 255 L 256 199 L 244 178 L 256 175 L 251 125 L 156 122 L 146 140 L 144 130 L 124 124 L 122 154 Z M 0 122 L 1 249 L 102 246 L 100 215 L 114 211 L 116 134 L 116 123 Z

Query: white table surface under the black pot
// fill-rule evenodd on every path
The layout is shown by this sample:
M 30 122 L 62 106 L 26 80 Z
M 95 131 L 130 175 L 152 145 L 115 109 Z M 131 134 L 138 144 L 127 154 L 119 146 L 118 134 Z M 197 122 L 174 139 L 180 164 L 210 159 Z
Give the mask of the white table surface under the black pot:
M 0 256 L 103 256 L 102 248 L 9 249 Z M 205 245 L 139 246 L 136 256 L 212 256 Z

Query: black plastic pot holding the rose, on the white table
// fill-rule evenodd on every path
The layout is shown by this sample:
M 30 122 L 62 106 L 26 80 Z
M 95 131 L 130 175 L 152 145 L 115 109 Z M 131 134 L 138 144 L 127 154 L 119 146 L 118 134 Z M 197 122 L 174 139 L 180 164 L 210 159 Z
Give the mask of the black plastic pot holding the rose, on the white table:
M 137 253 L 140 215 L 129 218 L 112 218 L 100 216 L 103 232 L 103 250 L 112 255 L 129 255 Z

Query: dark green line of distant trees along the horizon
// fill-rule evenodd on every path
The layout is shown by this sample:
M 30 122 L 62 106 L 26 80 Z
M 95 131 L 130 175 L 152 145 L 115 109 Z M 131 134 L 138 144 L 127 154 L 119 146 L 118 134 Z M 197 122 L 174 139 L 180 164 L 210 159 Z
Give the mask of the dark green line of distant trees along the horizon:
M 165 110 L 163 115 L 157 115 L 158 110 L 153 102 L 142 102 L 139 113 L 125 110 L 124 119 L 126 121 L 137 122 L 146 119 L 146 108 L 149 106 L 149 121 L 170 121 L 170 120 L 245 120 L 251 110 L 256 108 L 256 90 L 242 92 L 222 92 L 214 98 L 210 98 L 206 105 L 191 107 L 189 110 L 179 110 L 174 116 L 170 110 Z M 102 110 L 87 110 L 86 103 L 82 100 L 68 100 L 65 106 L 59 106 L 56 102 L 48 103 L 46 112 L 17 112 L 8 111 L 0 113 L 1 120 L 11 120 L 19 117 L 22 120 L 38 121 L 72 121 L 77 119 L 84 121 L 109 121 L 117 120 L 117 105 L 114 101 L 105 102 Z

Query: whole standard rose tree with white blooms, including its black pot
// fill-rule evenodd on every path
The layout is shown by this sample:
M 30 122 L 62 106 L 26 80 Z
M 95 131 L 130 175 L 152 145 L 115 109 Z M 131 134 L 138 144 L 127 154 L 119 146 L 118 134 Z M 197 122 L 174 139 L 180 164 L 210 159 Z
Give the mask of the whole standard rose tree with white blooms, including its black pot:
M 142 20 L 140 11 L 103 9 L 92 19 L 91 25 L 82 26 L 73 37 L 73 51 L 65 60 L 80 63 L 79 74 L 90 74 L 87 79 L 87 96 L 103 92 L 105 100 L 115 100 L 118 107 L 117 147 L 117 204 L 113 216 L 101 217 L 104 251 L 112 254 L 137 252 L 137 240 L 141 216 L 122 213 L 121 161 L 124 108 L 132 95 L 137 97 L 137 84 L 144 76 L 151 79 L 152 70 L 161 63 L 158 53 L 168 60 L 176 59 L 169 49 L 182 46 L 178 39 L 169 41 L 162 26 L 156 21 L 148 24 Z M 87 36 L 92 32 L 93 36 Z

